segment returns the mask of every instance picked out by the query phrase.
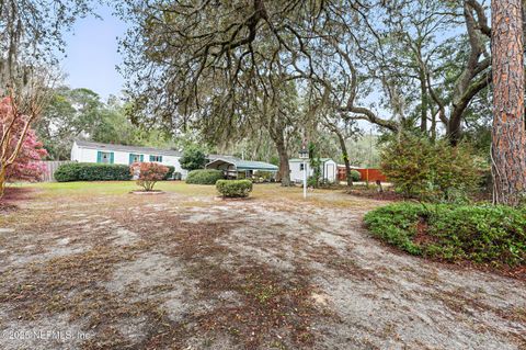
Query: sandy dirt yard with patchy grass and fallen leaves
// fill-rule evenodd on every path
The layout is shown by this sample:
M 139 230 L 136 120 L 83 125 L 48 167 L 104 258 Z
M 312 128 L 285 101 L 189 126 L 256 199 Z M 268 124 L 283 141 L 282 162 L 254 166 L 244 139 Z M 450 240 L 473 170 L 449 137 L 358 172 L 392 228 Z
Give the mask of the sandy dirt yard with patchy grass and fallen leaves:
M 362 226 L 385 202 L 161 188 L 38 185 L 0 213 L 0 348 L 526 349 L 526 283 L 386 247 Z

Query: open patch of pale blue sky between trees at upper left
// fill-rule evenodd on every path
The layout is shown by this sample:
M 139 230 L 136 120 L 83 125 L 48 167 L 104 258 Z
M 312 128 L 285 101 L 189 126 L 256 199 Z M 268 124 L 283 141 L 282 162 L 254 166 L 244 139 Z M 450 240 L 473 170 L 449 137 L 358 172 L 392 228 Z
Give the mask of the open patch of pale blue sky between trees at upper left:
M 100 7 L 96 13 L 101 19 L 79 20 L 66 34 L 67 57 L 61 69 L 67 75 L 66 84 L 91 89 L 105 100 L 111 94 L 119 95 L 124 86 L 115 66 L 122 63 L 117 37 L 124 36 L 127 25 L 112 15 L 108 7 Z

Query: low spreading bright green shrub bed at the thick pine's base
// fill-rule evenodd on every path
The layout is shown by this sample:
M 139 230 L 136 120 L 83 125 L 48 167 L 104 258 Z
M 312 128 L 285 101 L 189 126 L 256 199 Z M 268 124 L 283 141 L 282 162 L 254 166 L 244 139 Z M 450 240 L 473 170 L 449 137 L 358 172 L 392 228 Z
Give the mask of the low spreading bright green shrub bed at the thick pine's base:
M 373 234 L 413 255 L 493 266 L 526 264 L 526 210 L 397 203 L 369 212 Z

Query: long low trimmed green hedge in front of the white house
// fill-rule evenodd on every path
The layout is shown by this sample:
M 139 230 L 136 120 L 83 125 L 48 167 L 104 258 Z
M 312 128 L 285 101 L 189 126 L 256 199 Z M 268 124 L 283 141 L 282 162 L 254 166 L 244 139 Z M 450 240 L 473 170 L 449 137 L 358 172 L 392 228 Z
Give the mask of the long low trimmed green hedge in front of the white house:
M 123 181 L 130 180 L 128 166 L 91 162 L 70 162 L 55 171 L 55 180 L 68 181 Z

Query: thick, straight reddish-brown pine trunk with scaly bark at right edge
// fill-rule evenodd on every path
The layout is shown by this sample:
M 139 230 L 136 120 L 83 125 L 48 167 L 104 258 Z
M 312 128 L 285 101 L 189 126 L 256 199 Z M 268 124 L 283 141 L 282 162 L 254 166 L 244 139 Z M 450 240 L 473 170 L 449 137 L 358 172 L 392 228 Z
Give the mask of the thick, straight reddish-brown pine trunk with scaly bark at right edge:
M 522 0 L 492 0 L 493 202 L 517 205 L 526 190 Z

